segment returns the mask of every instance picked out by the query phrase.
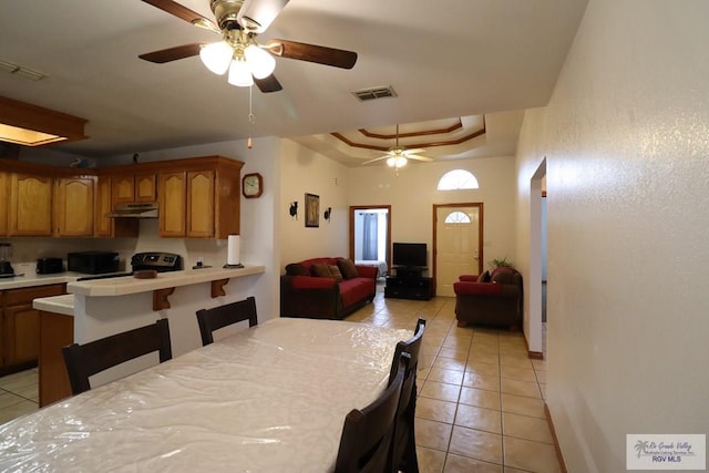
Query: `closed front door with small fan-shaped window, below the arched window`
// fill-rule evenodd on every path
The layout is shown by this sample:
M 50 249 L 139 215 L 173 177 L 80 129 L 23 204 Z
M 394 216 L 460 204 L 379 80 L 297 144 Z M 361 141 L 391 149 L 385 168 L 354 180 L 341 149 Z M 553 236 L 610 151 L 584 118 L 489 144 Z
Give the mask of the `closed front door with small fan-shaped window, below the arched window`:
M 479 207 L 436 207 L 436 296 L 455 297 L 453 282 L 459 276 L 477 274 L 479 226 Z

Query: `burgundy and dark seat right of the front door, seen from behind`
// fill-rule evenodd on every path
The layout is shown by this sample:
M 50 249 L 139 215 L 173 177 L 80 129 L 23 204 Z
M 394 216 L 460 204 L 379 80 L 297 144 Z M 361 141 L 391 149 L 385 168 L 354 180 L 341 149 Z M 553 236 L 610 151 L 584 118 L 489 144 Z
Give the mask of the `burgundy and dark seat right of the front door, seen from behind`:
M 463 275 L 453 284 L 453 290 L 459 327 L 473 323 L 521 329 L 524 298 L 517 270 L 497 267 L 481 276 Z

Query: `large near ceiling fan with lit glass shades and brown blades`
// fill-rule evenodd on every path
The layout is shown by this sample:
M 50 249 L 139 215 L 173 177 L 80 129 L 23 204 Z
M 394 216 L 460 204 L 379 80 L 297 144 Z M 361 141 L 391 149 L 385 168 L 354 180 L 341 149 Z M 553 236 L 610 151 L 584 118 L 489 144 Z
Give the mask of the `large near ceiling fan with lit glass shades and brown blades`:
M 309 61 L 341 69 L 352 69 L 357 53 L 288 40 L 257 42 L 288 0 L 210 0 L 216 23 L 173 0 L 143 0 L 195 27 L 222 35 L 215 43 L 192 43 L 153 51 L 138 58 L 158 64 L 199 55 L 216 74 L 229 71 L 228 82 L 237 86 L 256 84 L 261 92 L 277 92 L 282 86 L 273 74 L 277 58 Z M 205 0 L 206 1 L 206 0 Z

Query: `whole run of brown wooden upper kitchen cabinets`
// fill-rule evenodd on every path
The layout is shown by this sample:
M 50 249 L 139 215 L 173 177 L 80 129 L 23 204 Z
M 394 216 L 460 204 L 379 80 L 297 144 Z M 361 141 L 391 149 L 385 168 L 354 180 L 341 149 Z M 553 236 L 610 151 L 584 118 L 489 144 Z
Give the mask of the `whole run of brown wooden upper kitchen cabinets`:
M 116 204 L 158 203 L 160 236 L 238 235 L 244 163 L 203 156 L 99 169 L 11 162 L 0 171 L 0 236 L 137 237 Z

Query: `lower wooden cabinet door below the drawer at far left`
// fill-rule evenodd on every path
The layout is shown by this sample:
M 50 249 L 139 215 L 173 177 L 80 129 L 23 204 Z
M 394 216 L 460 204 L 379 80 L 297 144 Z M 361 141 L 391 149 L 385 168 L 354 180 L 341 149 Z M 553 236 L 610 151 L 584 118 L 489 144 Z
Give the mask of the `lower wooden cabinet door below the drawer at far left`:
M 2 316 L 4 364 L 35 361 L 40 352 L 39 310 L 23 304 L 6 307 Z

